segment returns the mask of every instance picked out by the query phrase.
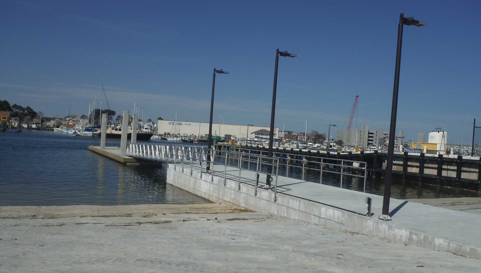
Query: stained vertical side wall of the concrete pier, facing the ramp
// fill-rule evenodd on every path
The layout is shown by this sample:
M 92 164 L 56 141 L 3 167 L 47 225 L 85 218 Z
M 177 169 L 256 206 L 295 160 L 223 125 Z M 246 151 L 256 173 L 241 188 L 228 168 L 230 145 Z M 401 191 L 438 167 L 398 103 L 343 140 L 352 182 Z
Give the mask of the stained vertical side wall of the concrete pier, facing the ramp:
M 215 176 L 213 182 L 211 181 L 212 176 L 206 173 L 201 174 L 200 170 L 193 170 L 190 174 L 190 168 L 182 169 L 182 166 L 178 164 L 177 166 L 174 166 L 174 164 L 168 166 L 167 183 L 213 202 L 230 203 L 266 214 L 380 237 L 404 244 L 481 258 L 480 248 L 464 246 L 445 239 L 410 231 L 397 227 L 390 221 L 380 221 L 283 194 L 278 194 L 277 200 L 274 202 L 274 192 L 272 191 L 258 189 L 257 196 L 254 196 L 255 189 L 252 185 L 241 184 L 239 190 L 237 181 L 227 180 L 225 186 L 222 177 Z

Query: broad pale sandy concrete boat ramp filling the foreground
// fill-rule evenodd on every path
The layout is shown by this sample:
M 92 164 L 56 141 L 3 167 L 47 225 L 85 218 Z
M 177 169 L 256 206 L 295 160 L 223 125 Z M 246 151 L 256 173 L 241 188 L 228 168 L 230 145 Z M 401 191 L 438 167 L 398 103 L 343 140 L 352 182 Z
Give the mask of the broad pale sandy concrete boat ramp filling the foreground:
M 0 207 L 0 272 L 479 272 L 481 260 L 223 204 Z

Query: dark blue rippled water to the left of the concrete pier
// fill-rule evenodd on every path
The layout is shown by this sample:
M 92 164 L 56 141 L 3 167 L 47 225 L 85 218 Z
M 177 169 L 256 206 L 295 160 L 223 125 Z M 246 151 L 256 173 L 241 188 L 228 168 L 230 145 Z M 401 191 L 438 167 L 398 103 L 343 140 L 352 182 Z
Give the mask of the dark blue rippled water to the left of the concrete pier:
M 0 206 L 209 202 L 167 184 L 165 168 L 126 166 L 90 152 L 100 138 L 23 130 L 0 132 L 0 143 Z

